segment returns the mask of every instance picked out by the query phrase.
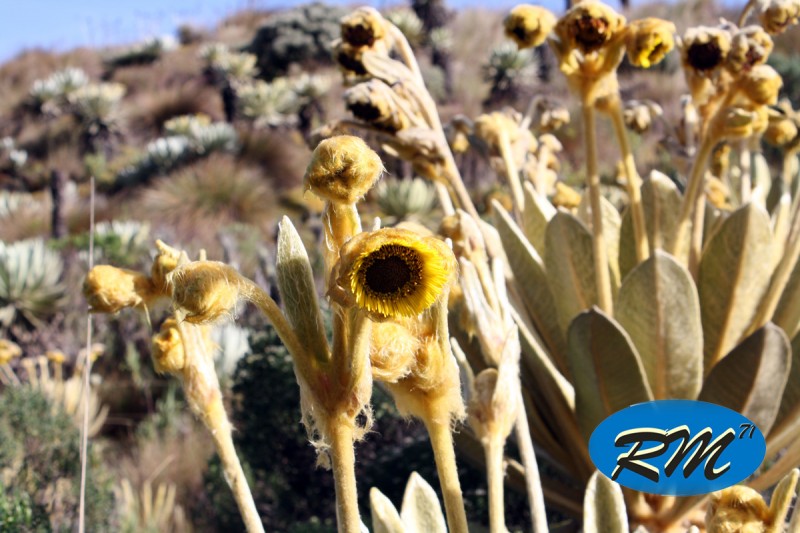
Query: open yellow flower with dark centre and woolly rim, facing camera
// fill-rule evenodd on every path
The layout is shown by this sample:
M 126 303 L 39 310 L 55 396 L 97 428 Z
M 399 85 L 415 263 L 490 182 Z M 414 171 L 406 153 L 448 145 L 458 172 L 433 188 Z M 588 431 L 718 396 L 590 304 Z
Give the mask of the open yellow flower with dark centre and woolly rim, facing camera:
M 441 296 L 456 273 L 452 250 L 402 229 L 360 233 L 341 250 L 338 285 L 378 318 L 414 316 Z

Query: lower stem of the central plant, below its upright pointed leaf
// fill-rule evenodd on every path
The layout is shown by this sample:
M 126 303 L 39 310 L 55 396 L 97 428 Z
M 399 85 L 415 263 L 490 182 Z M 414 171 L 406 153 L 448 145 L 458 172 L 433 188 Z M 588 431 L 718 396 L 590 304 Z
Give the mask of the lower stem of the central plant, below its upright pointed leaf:
M 331 466 L 336 487 L 336 522 L 340 533 L 359 533 L 361 517 L 356 492 L 356 457 L 352 421 L 331 424 Z

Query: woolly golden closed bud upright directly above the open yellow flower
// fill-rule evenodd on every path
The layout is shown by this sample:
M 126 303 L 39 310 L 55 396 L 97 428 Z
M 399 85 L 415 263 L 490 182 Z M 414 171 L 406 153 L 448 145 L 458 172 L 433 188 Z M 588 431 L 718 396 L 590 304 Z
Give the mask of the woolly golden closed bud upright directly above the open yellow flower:
M 335 203 L 354 204 L 375 184 L 383 163 L 367 143 L 352 135 L 320 142 L 303 178 L 306 189 Z

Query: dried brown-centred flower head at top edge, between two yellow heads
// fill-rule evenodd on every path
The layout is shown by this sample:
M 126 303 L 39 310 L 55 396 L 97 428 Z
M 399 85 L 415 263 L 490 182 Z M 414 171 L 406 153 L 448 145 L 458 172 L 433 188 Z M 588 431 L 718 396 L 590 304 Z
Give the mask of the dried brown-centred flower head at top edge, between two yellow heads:
M 555 31 L 569 47 L 590 54 L 619 37 L 624 29 L 625 17 L 602 2 L 584 0 L 561 17 Z

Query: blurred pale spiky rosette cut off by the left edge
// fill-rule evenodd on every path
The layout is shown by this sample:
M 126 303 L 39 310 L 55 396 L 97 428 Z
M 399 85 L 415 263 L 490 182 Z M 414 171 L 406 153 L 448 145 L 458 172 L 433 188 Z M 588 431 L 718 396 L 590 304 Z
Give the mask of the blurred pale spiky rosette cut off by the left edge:
M 0 241 L 0 327 L 36 326 L 64 302 L 61 257 L 42 239 Z

